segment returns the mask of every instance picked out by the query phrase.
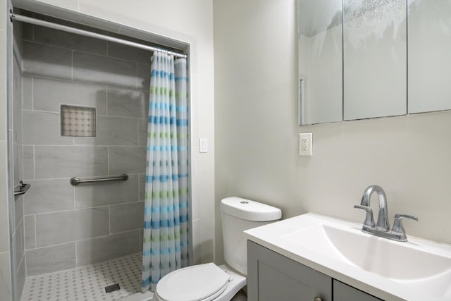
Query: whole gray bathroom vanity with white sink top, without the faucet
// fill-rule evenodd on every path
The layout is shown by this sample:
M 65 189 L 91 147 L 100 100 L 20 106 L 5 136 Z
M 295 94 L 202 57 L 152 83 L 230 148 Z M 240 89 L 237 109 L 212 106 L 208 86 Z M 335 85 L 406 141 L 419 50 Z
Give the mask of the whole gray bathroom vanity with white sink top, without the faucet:
M 451 245 L 303 214 L 245 231 L 249 301 L 451 300 Z

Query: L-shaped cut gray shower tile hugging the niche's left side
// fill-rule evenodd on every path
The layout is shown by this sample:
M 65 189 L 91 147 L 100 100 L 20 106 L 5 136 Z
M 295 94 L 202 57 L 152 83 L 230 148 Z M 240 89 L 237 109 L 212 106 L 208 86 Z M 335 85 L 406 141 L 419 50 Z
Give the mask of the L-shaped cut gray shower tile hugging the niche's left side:
M 24 145 L 73 145 L 73 137 L 61 136 L 59 113 L 23 111 Z

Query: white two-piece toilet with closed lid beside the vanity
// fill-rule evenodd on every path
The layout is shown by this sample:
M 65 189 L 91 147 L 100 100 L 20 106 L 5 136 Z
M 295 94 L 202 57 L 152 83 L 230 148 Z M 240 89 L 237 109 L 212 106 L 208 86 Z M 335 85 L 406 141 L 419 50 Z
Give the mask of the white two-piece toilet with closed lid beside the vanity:
M 230 301 L 247 281 L 247 245 L 243 231 L 280 220 L 280 209 L 249 199 L 221 200 L 226 264 L 197 264 L 159 281 L 154 301 Z M 240 299 L 245 300 L 245 299 Z

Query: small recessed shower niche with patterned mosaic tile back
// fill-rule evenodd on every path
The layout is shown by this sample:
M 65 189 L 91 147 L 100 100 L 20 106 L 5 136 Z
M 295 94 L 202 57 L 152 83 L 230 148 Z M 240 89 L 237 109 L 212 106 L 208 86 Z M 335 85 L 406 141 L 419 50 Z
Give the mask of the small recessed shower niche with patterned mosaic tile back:
M 61 105 L 61 135 L 96 137 L 96 109 Z

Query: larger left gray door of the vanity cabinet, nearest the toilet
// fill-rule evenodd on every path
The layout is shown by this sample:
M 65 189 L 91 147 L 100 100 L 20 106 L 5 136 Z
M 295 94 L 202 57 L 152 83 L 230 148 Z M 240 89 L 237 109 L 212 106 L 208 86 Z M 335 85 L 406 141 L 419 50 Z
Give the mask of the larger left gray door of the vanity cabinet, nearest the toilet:
M 332 300 L 332 278 L 247 241 L 248 301 Z

